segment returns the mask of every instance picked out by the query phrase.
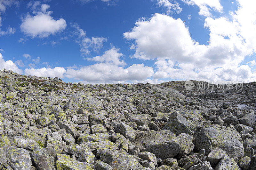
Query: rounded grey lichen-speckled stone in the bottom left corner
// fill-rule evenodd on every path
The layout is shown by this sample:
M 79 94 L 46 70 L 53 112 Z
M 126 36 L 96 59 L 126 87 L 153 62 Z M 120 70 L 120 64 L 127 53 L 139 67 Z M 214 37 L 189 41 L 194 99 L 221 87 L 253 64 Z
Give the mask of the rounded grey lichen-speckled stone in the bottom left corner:
M 9 147 L 6 151 L 6 158 L 14 170 L 30 170 L 32 165 L 29 152 L 23 148 Z

